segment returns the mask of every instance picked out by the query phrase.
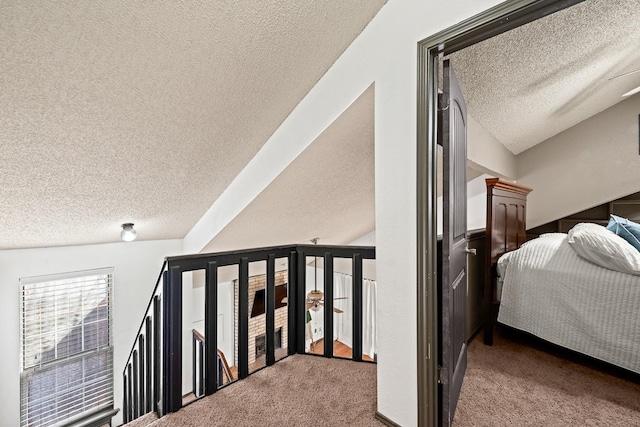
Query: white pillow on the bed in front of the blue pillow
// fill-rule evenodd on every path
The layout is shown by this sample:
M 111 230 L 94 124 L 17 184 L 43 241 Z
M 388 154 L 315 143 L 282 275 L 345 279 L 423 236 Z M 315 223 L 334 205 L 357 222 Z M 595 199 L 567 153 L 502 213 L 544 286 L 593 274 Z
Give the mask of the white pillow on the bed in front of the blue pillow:
M 600 267 L 640 275 L 640 252 L 601 225 L 577 224 L 569 230 L 567 241 L 578 255 Z

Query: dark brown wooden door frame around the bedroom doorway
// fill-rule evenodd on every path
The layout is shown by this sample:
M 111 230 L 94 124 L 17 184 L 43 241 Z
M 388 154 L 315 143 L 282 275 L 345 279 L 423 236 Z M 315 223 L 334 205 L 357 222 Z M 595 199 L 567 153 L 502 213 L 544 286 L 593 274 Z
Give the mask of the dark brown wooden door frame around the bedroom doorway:
M 511 0 L 418 42 L 417 398 L 418 426 L 438 425 L 437 102 L 439 58 L 584 0 Z M 426 404 L 425 404 L 426 403 Z

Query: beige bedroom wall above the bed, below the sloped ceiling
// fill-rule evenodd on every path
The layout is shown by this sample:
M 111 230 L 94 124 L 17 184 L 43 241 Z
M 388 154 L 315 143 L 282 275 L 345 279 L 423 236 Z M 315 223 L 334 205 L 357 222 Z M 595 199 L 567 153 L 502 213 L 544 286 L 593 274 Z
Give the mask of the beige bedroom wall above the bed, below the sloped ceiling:
M 517 156 L 527 228 L 640 191 L 635 95 Z

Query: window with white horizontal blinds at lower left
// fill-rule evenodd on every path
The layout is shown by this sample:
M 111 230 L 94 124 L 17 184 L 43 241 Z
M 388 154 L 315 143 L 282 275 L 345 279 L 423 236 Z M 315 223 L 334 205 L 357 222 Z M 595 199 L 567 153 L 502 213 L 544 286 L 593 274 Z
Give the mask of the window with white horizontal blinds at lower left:
M 113 407 L 113 269 L 20 280 L 20 425 Z

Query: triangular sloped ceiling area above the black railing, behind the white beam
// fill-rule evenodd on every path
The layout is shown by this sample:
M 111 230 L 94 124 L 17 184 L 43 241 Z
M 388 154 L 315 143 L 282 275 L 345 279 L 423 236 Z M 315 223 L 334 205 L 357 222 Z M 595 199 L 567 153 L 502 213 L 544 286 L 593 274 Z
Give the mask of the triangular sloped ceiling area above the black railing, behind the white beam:
M 346 244 L 375 226 L 374 88 L 347 108 L 203 252 Z

